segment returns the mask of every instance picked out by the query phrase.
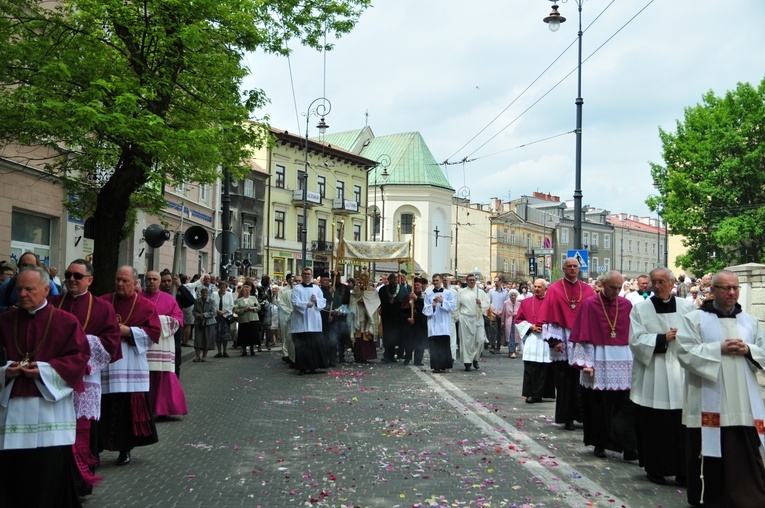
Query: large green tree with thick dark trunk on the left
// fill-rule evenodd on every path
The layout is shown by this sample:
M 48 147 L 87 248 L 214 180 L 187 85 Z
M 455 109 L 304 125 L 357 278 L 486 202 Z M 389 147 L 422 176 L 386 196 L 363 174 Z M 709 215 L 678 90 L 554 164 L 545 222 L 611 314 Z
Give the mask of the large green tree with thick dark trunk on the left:
M 53 154 L 45 169 L 94 221 L 95 292 L 113 285 L 135 207 L 157 212 L 166 182 L 250 171 L 268 138 L 248 120 L 267 99 L 241 90 L 246 53 L 321 48 L 369 3 L 0 0 L 0 143 Z

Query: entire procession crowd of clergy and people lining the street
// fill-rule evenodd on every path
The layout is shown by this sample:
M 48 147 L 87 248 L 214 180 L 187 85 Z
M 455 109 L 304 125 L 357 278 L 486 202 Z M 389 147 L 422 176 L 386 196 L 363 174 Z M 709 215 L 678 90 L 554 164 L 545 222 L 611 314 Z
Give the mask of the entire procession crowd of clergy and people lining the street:
M 765 332 L 737 303 L 733 272 L 585 281 L 567 259 L 552 283 L 484 285 L 469 274 L 458 284 L 403 270 L 375 283 L 304 268 L 277 284 L 169 270 L 141 278 L 123 266 L 114 292 L 96 297 L 84 259 L 63 281 L 31 252 L 0 269 L 0 506 L 80 506 L 100 452 L 119 452 L 125 466 L 135 447 L 156 443 L 156 419 L 188 412 L 183 347 L 193 363 L 280 347 L 298 375 L 349 353 L 360 364 L 428 359 L 435 374 L 469 372 L 506 347 L 522 356 L 526 403 L 554 399 L 555 423 L 582 429 L 596 457 L 621 453 L 653 483 L 687 485 L 693 506 L 765 505 L 754 377 Z M 33 488 L 25 465 L 51 488 Z

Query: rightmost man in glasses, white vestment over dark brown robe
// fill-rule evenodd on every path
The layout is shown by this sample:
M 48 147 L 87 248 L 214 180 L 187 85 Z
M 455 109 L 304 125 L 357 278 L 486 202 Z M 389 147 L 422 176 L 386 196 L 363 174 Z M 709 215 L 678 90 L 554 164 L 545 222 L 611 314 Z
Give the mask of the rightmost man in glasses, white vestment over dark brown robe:
M 738 304 L 739 281 L 722 270 L 712 299 L 677 332 L 686 370 L 688 503 L 765 506 L 765 408 L 755 373 L 765 365 L 765 331 Z

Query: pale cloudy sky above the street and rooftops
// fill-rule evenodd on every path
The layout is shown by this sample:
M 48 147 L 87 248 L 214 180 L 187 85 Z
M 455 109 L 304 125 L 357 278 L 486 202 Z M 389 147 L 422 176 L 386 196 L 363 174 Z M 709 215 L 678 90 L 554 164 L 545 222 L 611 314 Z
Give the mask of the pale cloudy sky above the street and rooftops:
M 455 191 L 473 202 L 543 192 L 573 198 L 575 0 L 551 32 L 544 0 L 373 0 L 325 54 L 290 44 L 289 58 L 250 54 L 243 88 L 257 112 L 305 134 L 326 97 L 329 132 L 418 131 Z M 765 2 L 585 0 L 582 6 L 583 204 L 647 216 L 659 128 L 674 132 L 709 91 L 765 78 Z M 758 35 L 759 34 L 759 35 Z M 495 120 L 496 119 L 496 120 Z M 316 118 L 309 135 L 318 136 Z M 493 121 L 493 123 L 492 123 Z M 475 139 L 473 139 L 475 138 Z M 466 160 L 468 162 L 460 163 Z

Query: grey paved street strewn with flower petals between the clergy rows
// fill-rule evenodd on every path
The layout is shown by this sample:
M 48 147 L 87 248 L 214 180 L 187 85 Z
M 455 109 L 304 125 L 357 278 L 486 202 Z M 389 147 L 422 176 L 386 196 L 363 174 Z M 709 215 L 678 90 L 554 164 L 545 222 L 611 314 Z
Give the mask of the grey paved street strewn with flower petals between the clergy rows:
M 595 458 L 581 430 L 552 423 L 554 401 L 525 404 L 520 357 L 480 367 L 433 374 L 426 355 L 298 376 L 276 350 L 186 361 L 189 414 L 158 422 L 128 466 L 103 453 L 85 506 L 687 506 L 636 462 Z

